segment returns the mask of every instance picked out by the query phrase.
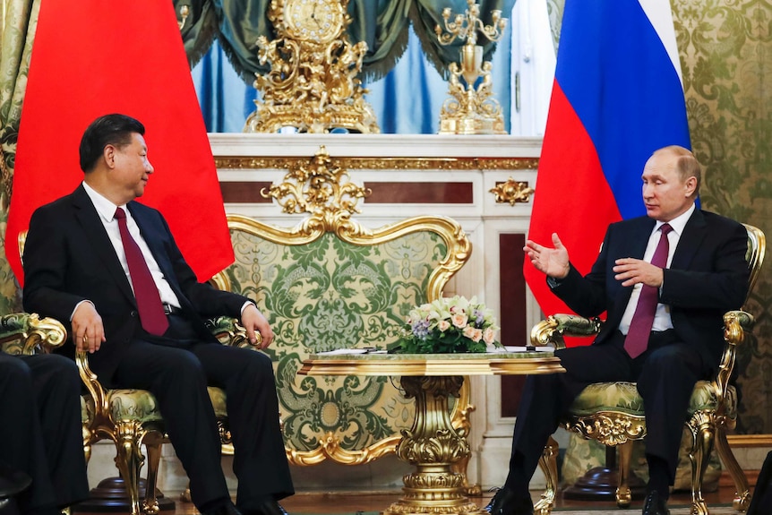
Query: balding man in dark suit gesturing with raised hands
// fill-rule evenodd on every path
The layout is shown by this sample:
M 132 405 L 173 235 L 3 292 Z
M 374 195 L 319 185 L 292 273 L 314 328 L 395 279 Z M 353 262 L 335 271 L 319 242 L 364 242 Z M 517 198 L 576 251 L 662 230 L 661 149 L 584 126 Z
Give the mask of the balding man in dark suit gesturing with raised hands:
M 716 372 L 723 314 L 747 294 L 748 236 L 742 224 L 696 208 L 701 171 L 689 150 L 657 150 L 642 179 L 648 216 L 611 224 L 588 275 L 571 266 L 557 234 L 552 248 L 530 240 L 524 247 L 572 310 L 608 316 L 593 345 L 556 352 L 566 373 L 528 377 L 509 475 L 487 506 L 492 515 L 533 513 L 528 482 L 559 417 L 589 383 L 613 381 L 637 382 L 646 406 L 643 513 L 668 512 L 691 391 Z

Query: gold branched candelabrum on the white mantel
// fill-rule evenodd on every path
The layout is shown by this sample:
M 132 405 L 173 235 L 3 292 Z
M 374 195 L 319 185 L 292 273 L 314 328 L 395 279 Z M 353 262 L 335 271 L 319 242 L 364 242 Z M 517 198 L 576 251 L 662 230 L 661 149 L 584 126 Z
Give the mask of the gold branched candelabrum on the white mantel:
M 475 0 L 467 0 L 466 15 L 456 14 L 450 21 L 450 7 L 442 10 L 444 31 L 437 25 L 434 32 L 442 45 L 449 45 L 454 39 L 467 39 L 461 47 L 460 66 L 450 63 L 450 99 L 442 104 L 440 112 L 441 134 L 506 134 L 502 107 L 493 99 L 493 81 L 490 61 L 483 62 L 483 47 L 477 45 L 477 31 L 491 41 L 502 38 L 506 19 L 502 12 L 491 12 L 493 25 L 480 20 L 480 6 Z M 477 87 L 476 82 L 480 80 Z

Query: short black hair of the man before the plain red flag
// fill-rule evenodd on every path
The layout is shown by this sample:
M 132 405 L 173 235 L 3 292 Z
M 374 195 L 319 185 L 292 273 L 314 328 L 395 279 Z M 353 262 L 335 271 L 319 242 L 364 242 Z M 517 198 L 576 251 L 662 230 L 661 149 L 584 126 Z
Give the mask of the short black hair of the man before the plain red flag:
M 91 122 L 81 138 L 81 170 L 88 174 L 96 167 L 107 145 L 128 145 L 132 142 L 133 133 L 145 133 L 145 126 L 139 120 L 119 114 L 99 116 Z

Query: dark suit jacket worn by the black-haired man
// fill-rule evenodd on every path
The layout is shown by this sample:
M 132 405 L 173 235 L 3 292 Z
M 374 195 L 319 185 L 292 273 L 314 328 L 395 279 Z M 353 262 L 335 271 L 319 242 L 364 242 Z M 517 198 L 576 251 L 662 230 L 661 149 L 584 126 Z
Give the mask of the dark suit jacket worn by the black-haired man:
M 203 341 L 216 341 L 203 318 L 239 317 L 248 299 L 198 282 L 159 211 L 139 202 L 129 202 L 127 207 L 184 315 Z M 23 261 L 26 311 L 52 316 L 66 325 L 75 305 L 86 299 L 94 303 L 107 341 L 89 360 L 100 381 L 109 384 L 122 349 L 140 333 L 141 323 L 129 280 L 82 185 L 35 210 Z

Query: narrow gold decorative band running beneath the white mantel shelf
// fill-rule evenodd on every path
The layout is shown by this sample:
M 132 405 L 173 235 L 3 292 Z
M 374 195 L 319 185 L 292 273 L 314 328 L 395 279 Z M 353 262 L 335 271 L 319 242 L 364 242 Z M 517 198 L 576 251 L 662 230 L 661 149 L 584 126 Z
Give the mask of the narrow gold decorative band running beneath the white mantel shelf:
M 337 167 L 349 170 L 536 170 L 538 158 L 331 158 Z M 222 169 L 290 169 L 308 163 L 308 157 L 217 156 L 215 166 Z

